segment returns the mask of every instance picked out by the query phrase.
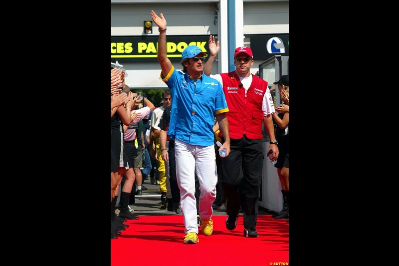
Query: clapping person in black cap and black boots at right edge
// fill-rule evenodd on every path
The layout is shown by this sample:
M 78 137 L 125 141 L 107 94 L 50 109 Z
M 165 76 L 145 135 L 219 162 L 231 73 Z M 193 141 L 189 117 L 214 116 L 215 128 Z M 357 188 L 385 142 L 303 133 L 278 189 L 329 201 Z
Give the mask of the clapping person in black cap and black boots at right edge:
M 288 75 L 282 75 L 279 81 L 274 82 L 277 85 L 278 90 L 280 92 L 280 97 L 284 101 L 284 103 L 288 104 L 288 95 L 289 95 L 289 83 L 288 83 Z M 280 105 L 281 106 L 281 105 Z M 288 175 L 289 175 L 289 166 L 288 166 L 288 143 L 289 143 L 289 113 L 283 113 L 279 107 L 275 108 L 278 111 L 277 113 L 273 113 L 273 119 L 276 121 L 276 138 L 278 141 L 278 150 L 280 154 L 277 158 L 277 163 L 274 167 L 277 168 L 278 178 L 280 179 L 281 184 L 281 193 L 283 194 L 283 209 L 275 215 L 272 215 L 274 219 L 287 219 L 289 212 L 289 183 L 288 183 Z M 288 220 L 287 220 L 288 222 Z

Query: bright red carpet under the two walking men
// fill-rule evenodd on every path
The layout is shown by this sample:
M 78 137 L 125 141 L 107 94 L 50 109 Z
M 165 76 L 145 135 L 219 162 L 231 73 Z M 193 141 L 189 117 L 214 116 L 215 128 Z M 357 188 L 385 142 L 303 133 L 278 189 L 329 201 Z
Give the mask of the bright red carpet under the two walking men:
M 288 223 L 271 215 L 258 216 L 258 238 L 243 237 L 242 215 L 233 231 L 227 216 L 213 216 L 213 234 L 199 230 L 200 242 L 183 244 L 183 217 L 140 216 L 118 239 L 111 240 L 111 266 L 233 266 L 288 265 Z M 280 264 L 279 264 L 280 263 Z

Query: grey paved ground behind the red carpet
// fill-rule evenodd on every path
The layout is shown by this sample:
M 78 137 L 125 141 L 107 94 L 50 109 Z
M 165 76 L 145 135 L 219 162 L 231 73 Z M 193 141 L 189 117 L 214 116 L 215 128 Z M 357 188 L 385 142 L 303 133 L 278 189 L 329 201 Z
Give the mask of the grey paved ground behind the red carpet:
M 160 210 L 161 193 L 159 192 L 159 185 L 152 185 L 150 180 L 145 180 L 144 186 L 146 186 L 148 190 L 143 190 L 143 196 L 135 196 L 135 204 L 130 205 L 135 214 L 144 216 L 178 215 L 175 212 L 170 212 L 168 210 Z M 272 213 L 273 212 L 270 210 L 259 207 L 259 215 Z M 226 215 L 226 212 L 214 209 L 213 215 Z

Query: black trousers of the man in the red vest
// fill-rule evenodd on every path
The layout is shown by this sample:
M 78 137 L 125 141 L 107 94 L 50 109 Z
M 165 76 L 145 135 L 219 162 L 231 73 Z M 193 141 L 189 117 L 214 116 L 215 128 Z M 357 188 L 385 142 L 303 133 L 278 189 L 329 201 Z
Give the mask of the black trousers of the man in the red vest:
M 263 139 L 230 139 L 230 154 L 221 158 L 222 186 L 227 215 L 236 216 L 241 206 L 244 228 L 256 227 L 258 195 L 263 168 Z

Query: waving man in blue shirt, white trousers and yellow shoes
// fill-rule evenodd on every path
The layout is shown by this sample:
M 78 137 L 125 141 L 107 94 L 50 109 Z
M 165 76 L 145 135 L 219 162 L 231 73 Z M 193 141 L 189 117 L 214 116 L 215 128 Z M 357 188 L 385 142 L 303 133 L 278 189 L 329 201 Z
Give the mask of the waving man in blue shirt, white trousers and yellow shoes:
M 196 244 L 198 239 L 195 176 L 200 183 L 201 231 L 205 236 L 213 232 L 212 203 L 216 198 L 216 158 L 213 146 L 214 116 L 219 122 L 225 142 L 219 148 L 230 152 L 230 138 L 226 112 L 228 107 L 219 82 L 203 74 L 206 53 L 190 45 L 182 53 L 183 72 L 177 71 L 167 57 L 166 19 L 151 10 L 159 27 L 158 61 L 161 78 L 172 95 L 171 120 L 168 135 L 175 139 L 176 177 L 180 189 L 180 203 L 185 225 L 184 244 Z

